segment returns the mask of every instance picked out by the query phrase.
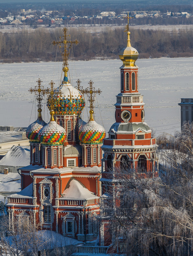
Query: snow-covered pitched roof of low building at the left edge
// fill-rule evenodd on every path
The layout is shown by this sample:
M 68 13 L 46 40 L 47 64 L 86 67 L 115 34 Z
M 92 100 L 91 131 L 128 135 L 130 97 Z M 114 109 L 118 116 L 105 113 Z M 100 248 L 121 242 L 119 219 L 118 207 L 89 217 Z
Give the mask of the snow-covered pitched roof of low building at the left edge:
M 29 146 L 12 146 L 7 154 L 0 160 L 0 165 L 27 166 L 30 162 Z

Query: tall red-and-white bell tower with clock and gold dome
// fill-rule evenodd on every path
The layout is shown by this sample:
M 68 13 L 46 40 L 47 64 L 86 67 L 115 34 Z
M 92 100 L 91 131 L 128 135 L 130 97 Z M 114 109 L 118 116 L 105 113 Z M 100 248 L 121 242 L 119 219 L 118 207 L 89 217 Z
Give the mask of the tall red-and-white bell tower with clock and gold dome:
M 156 139 L 152 137 L 151 128 L 145 123 L 143 95 L 138 92 L 138 67 L 135 62 L 138 52 L 131 46 L 129 32 L 129 15 L 126 27 L 127 46 L 119 53 L 122 60 L 121 92 L 116 96 L 115 120 L 108 138 L 103 140 L 102 177 L 108 179 L 109 172 L 126 163 L 141 176 L 158 176 L 155 170 Z M 109 170 L 110 169 L 110 170 Z M 105 187 L 108 183 L 102 182 Z M 106 189 L 104 189 L 106 193 Z

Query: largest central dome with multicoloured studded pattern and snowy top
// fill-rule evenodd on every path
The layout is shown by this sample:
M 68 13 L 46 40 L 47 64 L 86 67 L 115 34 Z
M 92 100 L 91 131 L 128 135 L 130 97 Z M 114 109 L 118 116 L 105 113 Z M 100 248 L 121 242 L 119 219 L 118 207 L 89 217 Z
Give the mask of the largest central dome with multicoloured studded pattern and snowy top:
M 67 77 L 64 77 L 62 84 L 54 92 L 55 115 L 79 115 L 81 113 L 85 106 L 85 99 L 81 92 L 69 83 Z M 49 103 L 48 108 L 51 109 Z

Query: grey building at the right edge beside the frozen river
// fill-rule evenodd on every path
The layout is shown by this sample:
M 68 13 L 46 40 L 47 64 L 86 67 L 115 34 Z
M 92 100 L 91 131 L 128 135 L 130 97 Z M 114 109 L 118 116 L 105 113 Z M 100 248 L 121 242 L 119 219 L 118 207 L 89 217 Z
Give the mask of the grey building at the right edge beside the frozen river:
M 191 123 L 193 121 L 193 98 L 181 98 L 181 127 L 185 121 Z

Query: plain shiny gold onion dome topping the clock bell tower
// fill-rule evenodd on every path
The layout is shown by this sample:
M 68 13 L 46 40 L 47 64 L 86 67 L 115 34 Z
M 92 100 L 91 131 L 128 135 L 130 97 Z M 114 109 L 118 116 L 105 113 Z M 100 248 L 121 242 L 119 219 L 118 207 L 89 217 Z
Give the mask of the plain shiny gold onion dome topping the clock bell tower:
M 138 51 L 131 46 L 130 43 L 130 32 L 127 32 L 127 47 L 123 48 L 119 52 L 119 58 L 123 62 L 122 67 L 136 67 L 135 62 L 139 56 Z

